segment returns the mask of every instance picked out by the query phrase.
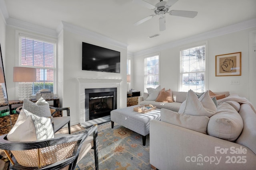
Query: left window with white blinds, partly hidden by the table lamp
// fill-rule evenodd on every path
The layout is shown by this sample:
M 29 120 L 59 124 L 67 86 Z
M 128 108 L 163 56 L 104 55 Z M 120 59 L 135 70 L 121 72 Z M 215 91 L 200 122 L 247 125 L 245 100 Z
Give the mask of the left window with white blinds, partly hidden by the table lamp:
M 56 91 L 56 42 L 19 33 L 20 66 L 36 68 L 33 94 L 40 89 Z

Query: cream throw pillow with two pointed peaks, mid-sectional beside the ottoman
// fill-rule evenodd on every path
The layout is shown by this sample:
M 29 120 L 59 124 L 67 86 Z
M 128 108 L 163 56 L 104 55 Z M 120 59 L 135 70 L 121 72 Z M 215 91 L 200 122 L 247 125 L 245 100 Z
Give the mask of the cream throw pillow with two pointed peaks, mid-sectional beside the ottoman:
M 211 117 L 217 112 L 217 107 L 206 91 L 199 99 L 197 95 L 189 90 L 187 99 L 180 105 L 179 113 L 184 113 L 194 116 L 207 116 Z

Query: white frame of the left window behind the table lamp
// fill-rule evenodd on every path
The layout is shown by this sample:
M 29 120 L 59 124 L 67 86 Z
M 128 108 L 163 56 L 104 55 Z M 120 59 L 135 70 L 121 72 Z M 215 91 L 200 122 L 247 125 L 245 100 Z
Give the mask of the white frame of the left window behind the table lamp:
M 25 32 L 25 31 L 20 31 L 20 30 L 16 30 L 16 50 L 15 50 L 15 66 L 24 66 L 21 65 L 20 63 L 20 36 L 26 36 L 29 37 L 31 39 L 37 39 L 39 41 L 46 41 L 49 43 L 54 43 L 55 44 L 55 57 L 54 57 L 54 85 L 53 85 L 53 92 L 54 94 L 57 94 L 58 92 L 58 40 L 52 37 L 47 37 L 45 35 L 40 35 L 40 34 L 34 34 L 34 33 L 29 33 L 29 32 Z M 37 69 L 48 69 L 49 67 L 41 67 L 41 66 L 26 66 L 26 67 L 31 67 L 31 68 L 37 68 Z M 50 68 L 52 69 L 52 68 Z M 32 96 L 35 96 L 35 94 L 32 94 Z

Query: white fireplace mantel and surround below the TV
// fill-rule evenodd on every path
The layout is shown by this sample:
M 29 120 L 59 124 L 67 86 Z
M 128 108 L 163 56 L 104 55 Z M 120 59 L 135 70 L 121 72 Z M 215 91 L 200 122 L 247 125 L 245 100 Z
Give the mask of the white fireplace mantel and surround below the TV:
M 88 88 L 111 88 L 115 87 L 117 90 L 117 108 L 120 108 L 120 83 L 123 79 L 109 79 L 109 78 L 77 78 L 79 84 L 79 123 L 88 121 L 85 119 L 85 93 L 84 89 Z

